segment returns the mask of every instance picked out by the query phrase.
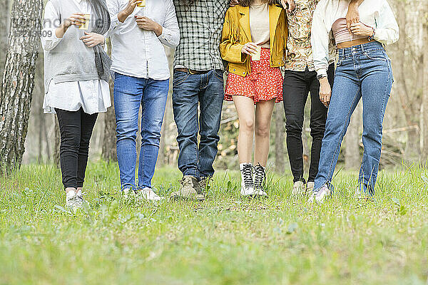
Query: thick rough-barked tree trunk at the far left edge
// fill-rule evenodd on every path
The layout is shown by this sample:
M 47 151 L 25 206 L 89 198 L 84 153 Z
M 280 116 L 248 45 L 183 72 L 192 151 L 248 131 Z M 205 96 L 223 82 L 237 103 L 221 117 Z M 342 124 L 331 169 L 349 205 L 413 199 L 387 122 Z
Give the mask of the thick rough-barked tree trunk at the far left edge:
M 43 1 L 14 1 L 6 66 L 0 91 L 0 166 L 21 165 L 38 56 Z

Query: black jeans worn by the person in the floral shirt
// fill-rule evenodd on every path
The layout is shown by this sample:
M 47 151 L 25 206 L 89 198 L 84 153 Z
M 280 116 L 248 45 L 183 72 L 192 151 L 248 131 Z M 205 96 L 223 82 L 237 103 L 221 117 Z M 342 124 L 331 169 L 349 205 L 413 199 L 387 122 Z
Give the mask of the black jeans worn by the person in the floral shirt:
M 329 66 L 327 74 L 330 86 L 332 86 L 335 78 L 334 64 Z M 305 182 L 303 178 L 302 128 L 308 93 L 310 93 L 311 98 L 310 135 L 312 137 L 312 147 L 307 181 L 314 182 L 318 172 L 318 163 L 320 162 L 321 142 L 325 132 L 327 108 L 320 100 L 320 83 L 317 80 L 316 71 L 309 71 L 307 68 L 306 71 L 285 71 L 283 95 L 285 118 L 287 119 L 287 151 L 294 182 Z

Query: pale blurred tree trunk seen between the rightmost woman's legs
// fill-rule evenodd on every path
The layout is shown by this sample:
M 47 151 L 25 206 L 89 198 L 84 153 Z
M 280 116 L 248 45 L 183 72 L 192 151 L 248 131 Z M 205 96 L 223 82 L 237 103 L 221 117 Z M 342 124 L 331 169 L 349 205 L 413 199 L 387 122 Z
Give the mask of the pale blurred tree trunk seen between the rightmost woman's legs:
M 351 123 L 345 135 L 345 168 L 357 169 L 360 167 L 360 130 L 362 104 L 357 105 L 352 114 Z

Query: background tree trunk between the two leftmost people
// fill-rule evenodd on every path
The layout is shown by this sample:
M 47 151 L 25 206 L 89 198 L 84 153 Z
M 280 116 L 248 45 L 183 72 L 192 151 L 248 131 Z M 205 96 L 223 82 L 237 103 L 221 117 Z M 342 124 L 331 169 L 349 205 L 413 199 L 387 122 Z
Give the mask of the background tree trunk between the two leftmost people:
M 108 55 L 111 56 L 111 41 L 107 41 Z M 110 98 L 111 107 L 108 108 L 107 113 L 104 115 L 104 139 L 102 157 L 106 161 L 117 161 L 116 155 L 116 117 L 114 115 L 113 106 L 113 81 L 108 83 L 110 85 Z

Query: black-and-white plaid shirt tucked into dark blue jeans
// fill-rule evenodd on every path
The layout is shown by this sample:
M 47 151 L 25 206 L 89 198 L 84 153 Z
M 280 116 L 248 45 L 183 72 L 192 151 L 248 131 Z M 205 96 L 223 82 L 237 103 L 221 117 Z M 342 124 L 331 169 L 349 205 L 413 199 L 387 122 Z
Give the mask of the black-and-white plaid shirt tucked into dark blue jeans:
M 174 0 L 180 27 L 174 66 L 194 71 L 224 70 L 218 47 L 230 0 L 197 0 L 190 8 L 183 2 Z

